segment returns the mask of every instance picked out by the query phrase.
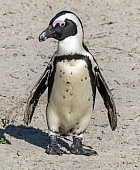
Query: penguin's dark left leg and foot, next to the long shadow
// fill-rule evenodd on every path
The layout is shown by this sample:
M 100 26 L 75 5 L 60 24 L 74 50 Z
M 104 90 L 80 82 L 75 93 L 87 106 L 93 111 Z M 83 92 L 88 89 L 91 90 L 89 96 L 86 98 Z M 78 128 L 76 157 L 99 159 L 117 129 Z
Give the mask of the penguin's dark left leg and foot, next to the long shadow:
M 64 153 L 57 143 L 57 136 L 49 136 L 49 142 L 50 144 L 46 149 L 48 155 L 62 155 Z

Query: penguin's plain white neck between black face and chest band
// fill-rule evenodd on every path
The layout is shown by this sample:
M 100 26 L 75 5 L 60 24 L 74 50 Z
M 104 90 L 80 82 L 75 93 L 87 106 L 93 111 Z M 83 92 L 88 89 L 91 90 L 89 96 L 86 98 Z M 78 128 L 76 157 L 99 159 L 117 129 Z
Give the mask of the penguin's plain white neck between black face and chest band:
M 81 54 L 83 51 L 83 38 L 70 36 L 58 42 L 58 55 Z

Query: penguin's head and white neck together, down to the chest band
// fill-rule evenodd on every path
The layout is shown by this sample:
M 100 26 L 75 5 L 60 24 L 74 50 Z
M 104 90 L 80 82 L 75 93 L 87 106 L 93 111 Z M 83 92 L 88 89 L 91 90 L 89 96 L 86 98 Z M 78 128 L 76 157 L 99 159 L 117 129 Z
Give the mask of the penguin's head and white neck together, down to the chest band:
M 83 34 L 81 20 L 73 12 L 61 11 L 39 35 L 39 41 L 54 38 L 59 42 L 59 52 L 72 54 L 78 53 L 77 50 L 83 47 Z

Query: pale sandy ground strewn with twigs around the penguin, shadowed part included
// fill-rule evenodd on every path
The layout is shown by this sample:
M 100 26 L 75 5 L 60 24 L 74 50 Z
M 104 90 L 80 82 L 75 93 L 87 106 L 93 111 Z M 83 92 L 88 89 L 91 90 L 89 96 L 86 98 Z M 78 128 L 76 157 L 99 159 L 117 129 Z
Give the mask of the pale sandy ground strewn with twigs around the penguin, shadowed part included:
M 0 7 L 0 137 L 4 135 L 11 142 L 0 145 L 0 169 L 140 169 L 139 0 L 1 0 Z M 112 132 L 97 93 L 84 143 L 92 146 L 98 156 L 59 157 L 45 153 L 46 93 L 30 127 L 23 124 L 29 92 L 57 46 L 54 40 L 39 43 L 38 35 L 61 10 L 71 10 L 81 18 L 85 43 L 99 63 L 116 102 L 118 127 Z

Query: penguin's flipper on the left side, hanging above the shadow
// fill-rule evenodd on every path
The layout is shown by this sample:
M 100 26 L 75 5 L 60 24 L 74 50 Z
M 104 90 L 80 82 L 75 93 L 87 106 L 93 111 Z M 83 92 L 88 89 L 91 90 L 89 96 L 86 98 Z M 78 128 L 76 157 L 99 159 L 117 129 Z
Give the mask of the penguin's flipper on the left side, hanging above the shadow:
M 31 123 L 35 107 L 39 101 L 39 98 L 47 89 L 49 73 L 50 67 L 48 66 L 30 92 L 30 96 L 27 100 L 26 109 L 24 112 L 24 123 L 26 125 Z

